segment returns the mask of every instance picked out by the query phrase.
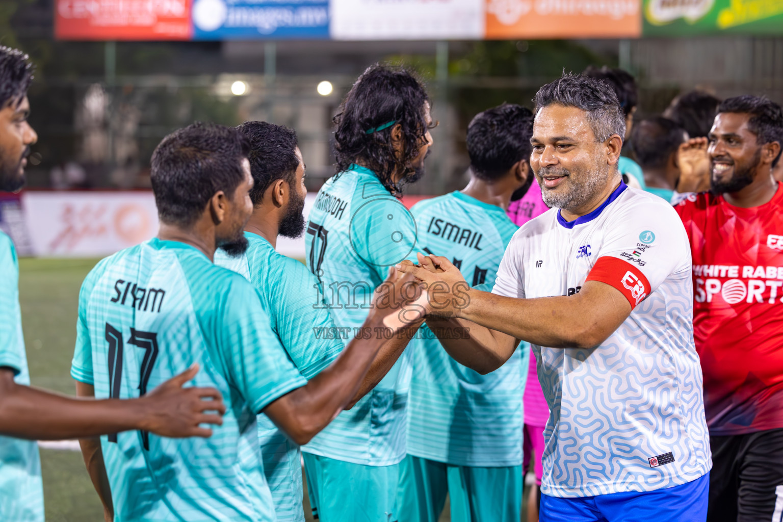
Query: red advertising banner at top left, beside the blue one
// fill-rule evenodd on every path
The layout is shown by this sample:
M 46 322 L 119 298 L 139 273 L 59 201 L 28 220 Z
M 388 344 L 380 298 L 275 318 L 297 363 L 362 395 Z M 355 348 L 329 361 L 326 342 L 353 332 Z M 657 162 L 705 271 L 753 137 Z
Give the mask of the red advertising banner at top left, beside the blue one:
M 60 40 L 189 40 L 190 0 L 55 0 Z

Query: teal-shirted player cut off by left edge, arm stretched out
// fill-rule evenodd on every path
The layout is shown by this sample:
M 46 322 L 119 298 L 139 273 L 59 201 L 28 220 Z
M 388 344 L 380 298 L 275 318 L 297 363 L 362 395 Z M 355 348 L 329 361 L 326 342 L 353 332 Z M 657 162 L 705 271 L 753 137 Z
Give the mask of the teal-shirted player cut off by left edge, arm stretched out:
M 17 49 L 0 47 L 0 190 L 24 185 L 30 146 L 38 136 L 27 123 L 27 87 L 32 67 Z M 19 263 L 9 236 L 0 232 L 0 520 L 42 522 L 44 499 L 36 439 L 87 437 L 143 429 L 168 437 L 208 437 L 199 423 L 220 423 L 204 416 L 201 396 L 212 394 L 209 408 L 222 411 L 215 390 L 182 389 L 198 371 L 191 368 L 145 398 L 132 401 L 83 401 L 32 388 L 24 351 L 19 304 Z M 27 439 L 27 440 L 23 440 Z

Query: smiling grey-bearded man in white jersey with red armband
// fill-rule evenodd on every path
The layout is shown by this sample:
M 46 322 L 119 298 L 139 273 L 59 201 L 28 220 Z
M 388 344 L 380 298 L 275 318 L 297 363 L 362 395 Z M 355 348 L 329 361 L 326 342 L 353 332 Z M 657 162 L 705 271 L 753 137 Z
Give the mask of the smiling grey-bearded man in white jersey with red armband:
M 399 268 L 428 283 L 431 327 L 470 328 L 442 340 L 460 363 L 490 372 L 515 339 L 532 344 L 551 410 L 541 520 L 703 522 L 711 459 L 685 230 L 622 183 L 612 88 L 568 74 L 535 101 L 530 164 L 554 208 L 514 234 L 493 292 L 443 257 Z

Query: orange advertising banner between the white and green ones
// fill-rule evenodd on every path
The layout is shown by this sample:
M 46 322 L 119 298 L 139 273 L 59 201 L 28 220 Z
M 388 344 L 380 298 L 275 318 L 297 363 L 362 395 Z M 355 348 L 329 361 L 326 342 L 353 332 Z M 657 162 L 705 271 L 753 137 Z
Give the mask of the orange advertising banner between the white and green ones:
M 640 0 L 486 0 L 488 39 L 640 36 Z

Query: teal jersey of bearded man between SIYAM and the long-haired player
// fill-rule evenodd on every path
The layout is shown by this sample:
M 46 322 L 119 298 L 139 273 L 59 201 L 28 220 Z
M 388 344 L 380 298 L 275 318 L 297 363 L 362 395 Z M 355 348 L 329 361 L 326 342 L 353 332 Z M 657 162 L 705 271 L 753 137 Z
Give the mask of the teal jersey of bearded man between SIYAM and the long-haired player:
M 305 265 L 276 252 L 262 236 L 245 232 L 249 246 L 239 257 L 215 252 L 215 265 L 244 275 L 261 296 L 272 332 L 305 379 L 312 379 L 340 355 L 343 340 L 323 306 L 318 281 Z M 265 415 L 258 416 L 264 474 L 279 522 L 305 520 L 302 509 L 301 454 Z

